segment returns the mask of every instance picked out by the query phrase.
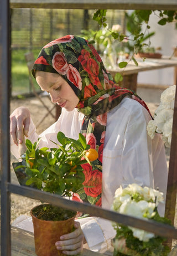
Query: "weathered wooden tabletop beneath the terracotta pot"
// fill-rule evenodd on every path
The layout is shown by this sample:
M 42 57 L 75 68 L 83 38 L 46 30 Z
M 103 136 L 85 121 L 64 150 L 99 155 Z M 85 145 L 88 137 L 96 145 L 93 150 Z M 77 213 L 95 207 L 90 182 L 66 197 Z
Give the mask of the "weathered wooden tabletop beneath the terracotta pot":
M 34 234 L 20 228 L 11 227 L 12 256 L 37 256 L 34 247 Z M 84 249 L 80 256 L 101 256 L 97 252 Z M 110 254 L 111 255 L 111 254 Z M 47 256 L 47 255 L 46 255 Z

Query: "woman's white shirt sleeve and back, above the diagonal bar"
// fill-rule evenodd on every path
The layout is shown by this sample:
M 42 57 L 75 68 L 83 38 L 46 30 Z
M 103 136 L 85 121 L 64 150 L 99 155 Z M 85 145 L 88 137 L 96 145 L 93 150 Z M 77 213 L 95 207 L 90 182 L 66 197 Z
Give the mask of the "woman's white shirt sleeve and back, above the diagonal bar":
M 110 209 L 114 192 L 122 185 L 137 183 L 166 195 L 168 168 L 164 143 L 159 134 L 150 139 L 148 111 L 136 100 L 125 98 L 107 117 L 103 150 L 102 207 Z M 164 213 L 160 209 L 160 213 Z

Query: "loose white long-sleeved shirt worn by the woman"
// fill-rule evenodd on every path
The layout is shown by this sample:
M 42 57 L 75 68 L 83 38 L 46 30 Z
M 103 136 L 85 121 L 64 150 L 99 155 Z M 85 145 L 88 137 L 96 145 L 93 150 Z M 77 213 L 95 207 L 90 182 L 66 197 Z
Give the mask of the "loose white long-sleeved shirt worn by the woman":
M 63 109 L 58 121 L 40 135 L 40 147 L 53 146 L 50 140 L 57 142 L 59 131 L 67 137 L 78 139 L 83 117 L 77 109 L 71 112 Z M 124 98 L 108 112 L 102 163 L 103 208 L 111 208 L 114 192 L 120 185 L 126 187 L 131 183 L 159 188 L 165 198 L 168 168 L 164 143 L 159 134 L 155 134 L 153 140 L 148 136 L 147 124 L 150 119 L 148 111 L 129 98 Z M 32 121 L 28 139 L 32 142 L 38 139 Z M 18 158 L 18 147 L 12 145 L 11 150 Z M 159 206 L 159 213 L 163 216 L 164 205 Z M 90 249 L 102 253 L 110 247 L 110 239 L 115 232 L 109 221 L 88 218 L 81 220 L 81 226 Z

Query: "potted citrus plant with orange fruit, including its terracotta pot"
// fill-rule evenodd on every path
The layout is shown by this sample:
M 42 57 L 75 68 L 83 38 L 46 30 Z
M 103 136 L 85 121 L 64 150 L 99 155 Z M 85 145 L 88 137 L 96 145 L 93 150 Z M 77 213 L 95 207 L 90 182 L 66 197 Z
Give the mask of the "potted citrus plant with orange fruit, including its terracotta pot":
M 78 140 L 74 140 L 59 132 L 57 138 L 60 145 L 55 144 L 57 147 L 51 149 L 39 149 L 39 141 L 32 144 L 27 139 L 27 150 L 22 156 L 23 165 L 15 169 L 23 169 L 25 185 L 70 198 L 83 187 L 85 176 L 82 164 L 90 163 L 89 158 L 92 155 L 97 158 L 97 151 L 90 149 L 82 134 L 79 134 Z M 55 242 L 60 235 L 72 232 L 76 212 L 43 203 L 34 207 L 30 214 L 33 219 L 37 255 L 64 255 L 56 249 Z

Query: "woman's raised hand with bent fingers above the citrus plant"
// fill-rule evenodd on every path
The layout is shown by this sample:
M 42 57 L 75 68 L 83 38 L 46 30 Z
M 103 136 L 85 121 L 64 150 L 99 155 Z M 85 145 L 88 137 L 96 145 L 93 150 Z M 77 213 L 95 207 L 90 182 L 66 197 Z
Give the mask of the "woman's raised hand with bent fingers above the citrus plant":
M 10 116 L 10 134 L 14 143 L 22 144 L 23 133 L 28 136 L 30 125 L 30 111 L 27 107 L 18 107 Z

